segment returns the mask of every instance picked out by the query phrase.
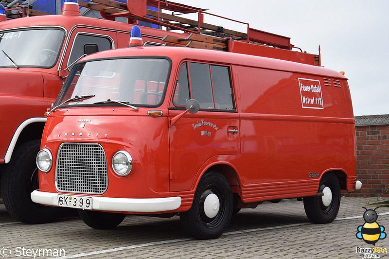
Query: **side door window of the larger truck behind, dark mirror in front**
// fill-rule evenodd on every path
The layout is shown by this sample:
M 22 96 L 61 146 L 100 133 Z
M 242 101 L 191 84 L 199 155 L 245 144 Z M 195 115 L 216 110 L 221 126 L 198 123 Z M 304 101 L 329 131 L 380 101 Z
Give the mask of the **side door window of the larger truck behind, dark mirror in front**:
M 112 42 L 109 40 L 109 38 L 79 34 L 76 36 L 71 48 L 68 65 L 84 55 L 84 46 L 90 44 L 96 44 L 98 47 L 97 51 L 106 51 L 112 49 Z

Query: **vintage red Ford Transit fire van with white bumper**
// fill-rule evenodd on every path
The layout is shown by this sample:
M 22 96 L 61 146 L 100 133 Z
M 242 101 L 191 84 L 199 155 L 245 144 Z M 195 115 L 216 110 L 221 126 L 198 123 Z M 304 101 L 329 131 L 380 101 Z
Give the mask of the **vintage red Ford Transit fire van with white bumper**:
M 78 208 L 93 228 L 125 214 L 179 215 L 219 237 L 240 208 L 302 198 L 330 223 L 355 176 L 354 116 L 339 72 L 180 47 L 91 54 L 44 128 L 36 203 Z

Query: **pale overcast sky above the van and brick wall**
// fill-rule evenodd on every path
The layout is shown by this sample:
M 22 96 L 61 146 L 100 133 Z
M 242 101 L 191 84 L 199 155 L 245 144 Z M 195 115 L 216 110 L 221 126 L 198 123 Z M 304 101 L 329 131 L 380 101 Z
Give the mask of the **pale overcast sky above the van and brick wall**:
M 291 38 L 321 65 L 345 71 L 354 115 L 389 114 L 389 0 L 172 0 Z M 244 32 L 244 27 L 204 17 Z

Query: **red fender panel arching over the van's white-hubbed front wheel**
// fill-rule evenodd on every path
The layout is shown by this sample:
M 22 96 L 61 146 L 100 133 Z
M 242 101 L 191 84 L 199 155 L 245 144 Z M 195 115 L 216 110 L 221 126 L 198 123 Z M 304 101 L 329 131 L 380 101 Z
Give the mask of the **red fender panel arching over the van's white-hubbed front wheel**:
M 198 186 L 198 183 L 200 182 L 201 177 L 206 173 L 210 168 L 218 166 L 218 165 L 227 165 L 229 166 L 234 172 L 234 177 L 231 176 L 231 173 L 226 172 L 220 172 L 223 173 L 231 185 L 239 186 L 241 183 L 241 178 L 239 175 L 239 165 L 240 165 L 240 155 L 215 155 L 210 157 L 208 160 L 206 160 L 200 167 L 200 169 L 197 171 L 195 178 L 193 180 L 191 192 L 195 192 L 196 188 Z M 234 192 L 234 189 L 231 186 L 232 191 Z

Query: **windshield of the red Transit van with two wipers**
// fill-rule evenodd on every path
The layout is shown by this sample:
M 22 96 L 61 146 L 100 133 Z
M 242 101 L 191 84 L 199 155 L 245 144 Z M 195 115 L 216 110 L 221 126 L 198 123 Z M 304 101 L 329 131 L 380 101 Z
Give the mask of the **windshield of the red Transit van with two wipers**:
M 61 106 L 157 107 L 163 101 L 170 62 L 165 58 L 121 58 L 76 65 L 56 105 L 75 96 L 95 95 Z M 126 105 L 127 104 L 127 105 Z

